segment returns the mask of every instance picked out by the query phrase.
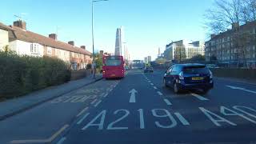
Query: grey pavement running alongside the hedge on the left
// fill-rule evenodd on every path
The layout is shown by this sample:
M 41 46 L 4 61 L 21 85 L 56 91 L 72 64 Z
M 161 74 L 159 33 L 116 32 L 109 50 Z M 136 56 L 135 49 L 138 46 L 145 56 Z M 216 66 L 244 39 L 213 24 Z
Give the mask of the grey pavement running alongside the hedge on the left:
M 10 99 L 5 102 L 0 102 L 0 120 L 13 116 L 14 114 L 21 113 L 24 110 L 38 106 L 43 102 L 50 101 L 50 99 L 57 98 L 62 94 L 69 93 L 82 86 L 89 85 L 102 79 L 102 74 L 96 74 L 95 79 L 92 75 L 76 81 L 70 81 L 58 86 L 50 86 L 43 90 L 38 90 L 30 94 L 26 94 L 19 98 Z

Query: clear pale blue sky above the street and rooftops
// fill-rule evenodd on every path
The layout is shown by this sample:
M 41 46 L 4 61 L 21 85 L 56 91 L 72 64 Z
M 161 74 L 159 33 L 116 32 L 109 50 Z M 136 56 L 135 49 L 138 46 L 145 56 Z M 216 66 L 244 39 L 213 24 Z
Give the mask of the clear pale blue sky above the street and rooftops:
M 114 52 L 115 33 L 125 28 L 130 57 L 156 58 L 158 47 L 180 39 L 206 40 L 203 14 L 214 0 L 110 0 L 94 3 L 94 37 L 97 50 Z M 0 9 L 0 22 L 11 25 L 23 14 L 27 30 L 56 33 L 58 40 L 74 40 L 91 48 L 90 0 L 8 0 Z

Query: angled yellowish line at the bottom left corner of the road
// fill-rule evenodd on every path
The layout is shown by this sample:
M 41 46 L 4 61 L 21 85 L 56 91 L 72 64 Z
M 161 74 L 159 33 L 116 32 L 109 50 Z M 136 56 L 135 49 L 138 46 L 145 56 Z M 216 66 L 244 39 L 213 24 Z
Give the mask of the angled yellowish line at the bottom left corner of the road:
M 52 142 L 55 138 L 58 137 L 62 131 L 66 130 L 69 125 L 62 126 L 60 130 L 58 130 L 55 134 L 53 134 L 50 138 L 47 139 L 27 139 L 27 140 L 13 140 L 10 143 L 49 143 Z

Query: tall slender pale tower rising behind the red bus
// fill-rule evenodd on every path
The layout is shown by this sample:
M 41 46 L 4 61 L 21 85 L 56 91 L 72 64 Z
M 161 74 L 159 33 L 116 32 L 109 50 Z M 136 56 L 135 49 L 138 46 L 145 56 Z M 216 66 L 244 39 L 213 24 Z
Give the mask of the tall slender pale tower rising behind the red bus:
M 126 51 L 122 51 L 122 48 L 125 47 L 124 45 L 124 28 L 121 26 L 116 33 L 114 55 L 124 55 L 126 53 Z

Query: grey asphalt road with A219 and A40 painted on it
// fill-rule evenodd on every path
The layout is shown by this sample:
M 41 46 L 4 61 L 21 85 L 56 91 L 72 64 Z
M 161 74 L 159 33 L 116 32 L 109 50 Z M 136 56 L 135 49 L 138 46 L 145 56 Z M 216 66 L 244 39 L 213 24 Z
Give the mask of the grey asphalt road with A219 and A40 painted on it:
M 102 80 L 0 122 L 0 143 L 256 143 L 256 85 L 174 94 L 162 70 Z

